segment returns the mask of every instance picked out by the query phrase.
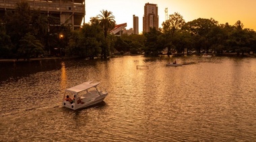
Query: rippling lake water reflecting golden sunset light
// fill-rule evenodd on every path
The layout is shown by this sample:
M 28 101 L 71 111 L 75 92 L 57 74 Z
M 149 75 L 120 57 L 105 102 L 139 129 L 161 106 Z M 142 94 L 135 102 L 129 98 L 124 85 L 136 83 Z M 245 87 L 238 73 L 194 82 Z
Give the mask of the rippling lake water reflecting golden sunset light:
M 255 58 L 41 60 L 0 73 L 0 141 L 256 141 Z M 104 102 L 64 108 L 65 88 L 87 80 Z

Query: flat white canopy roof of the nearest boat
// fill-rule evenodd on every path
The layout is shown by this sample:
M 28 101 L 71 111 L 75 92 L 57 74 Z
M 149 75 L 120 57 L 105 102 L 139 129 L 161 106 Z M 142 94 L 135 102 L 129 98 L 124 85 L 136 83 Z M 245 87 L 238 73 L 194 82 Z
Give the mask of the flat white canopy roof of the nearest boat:
M 65 91 L 66 92 L 82 92 L 83 90 L 86 90 L 88 88 L 92 88 L 94 86 L 97 86 L 98 84 L 100 84 L 100 82 L 96 82 L 96 83 L 92 83 L 93 81 L 88 81 L 88 82 L 84 82 L 82 84 L 79 84 L 77 86 L 73 86 L 71 88 L 67 88 Z

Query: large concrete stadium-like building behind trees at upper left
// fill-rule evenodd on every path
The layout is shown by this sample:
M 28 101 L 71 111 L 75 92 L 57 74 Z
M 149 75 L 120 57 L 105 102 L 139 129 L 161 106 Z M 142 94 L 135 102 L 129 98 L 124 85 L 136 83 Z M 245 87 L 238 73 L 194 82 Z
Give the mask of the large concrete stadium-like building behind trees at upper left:
M 58 17 L 59 25 L 69 23 L 72 29 L 77 29 L 85 23 L 85 0 L 0 0 L 0 16 L 7 10 L 15 9 L 16 3 L 22 1 L 28 3 L 30 9 L 40 9 L 42 13 Z

